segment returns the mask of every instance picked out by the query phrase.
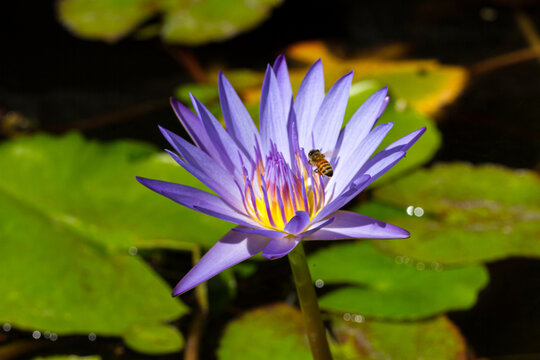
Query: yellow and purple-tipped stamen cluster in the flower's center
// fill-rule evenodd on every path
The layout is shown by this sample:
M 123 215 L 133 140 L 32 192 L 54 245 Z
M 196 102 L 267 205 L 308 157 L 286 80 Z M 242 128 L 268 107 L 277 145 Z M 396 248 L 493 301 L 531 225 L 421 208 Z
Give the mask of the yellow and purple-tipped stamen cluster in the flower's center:
M 289 165 L 272 146 L 264 159 L 257 151 L 252 174 L 244 169 L 243 200 L 247 213 L 263 227 L 282 231 L 297 211 L 310 219 L 324 204 L 324 184 L 303 153 L 296 153 Z

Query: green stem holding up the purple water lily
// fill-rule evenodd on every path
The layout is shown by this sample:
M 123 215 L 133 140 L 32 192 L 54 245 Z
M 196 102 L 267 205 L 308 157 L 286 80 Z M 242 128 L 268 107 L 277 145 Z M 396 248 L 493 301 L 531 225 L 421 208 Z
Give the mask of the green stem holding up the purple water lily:
M 291 264 L 313 359 L 332 360 L 302 242 L 289 253 L 289 263 Z

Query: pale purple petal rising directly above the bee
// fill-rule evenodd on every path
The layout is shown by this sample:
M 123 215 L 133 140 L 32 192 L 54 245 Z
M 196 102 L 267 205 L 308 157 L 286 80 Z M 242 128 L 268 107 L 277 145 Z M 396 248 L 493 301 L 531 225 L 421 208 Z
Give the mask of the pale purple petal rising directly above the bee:
M 324 98 L 313 126 L 314 143 L 311 144 L 312 149 L 322 149 L 323 152 L 326 152 L 336 148 L 347 108 L 352 77 L 352 72 L 343 76 L 332 86 Z

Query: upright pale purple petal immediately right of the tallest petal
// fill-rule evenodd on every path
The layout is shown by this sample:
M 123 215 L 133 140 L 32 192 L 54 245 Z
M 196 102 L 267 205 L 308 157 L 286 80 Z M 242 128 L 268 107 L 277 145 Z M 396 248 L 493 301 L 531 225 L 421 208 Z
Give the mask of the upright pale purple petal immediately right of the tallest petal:
M 311 134 L 315 116 L 324 99 L 324 74 L 321 60 L 317 60 L 309 69 L 302 81 L 293 107 L 298 124 L 298 140 L 300 147 L 313 148 Z

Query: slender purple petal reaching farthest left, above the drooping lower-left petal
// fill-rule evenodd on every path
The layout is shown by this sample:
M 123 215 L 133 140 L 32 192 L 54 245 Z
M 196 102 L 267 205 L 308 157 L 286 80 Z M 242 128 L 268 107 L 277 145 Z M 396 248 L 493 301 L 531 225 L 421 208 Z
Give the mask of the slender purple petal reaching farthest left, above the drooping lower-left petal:
M 140 176 L 137 176 L 137 180 L 147 188 L 190 209 L 238 225 L 253 226 L 255 224 L 249 217 L 227 205 L 223 199 L 206 191 L 167 181 L 146 179 Z

